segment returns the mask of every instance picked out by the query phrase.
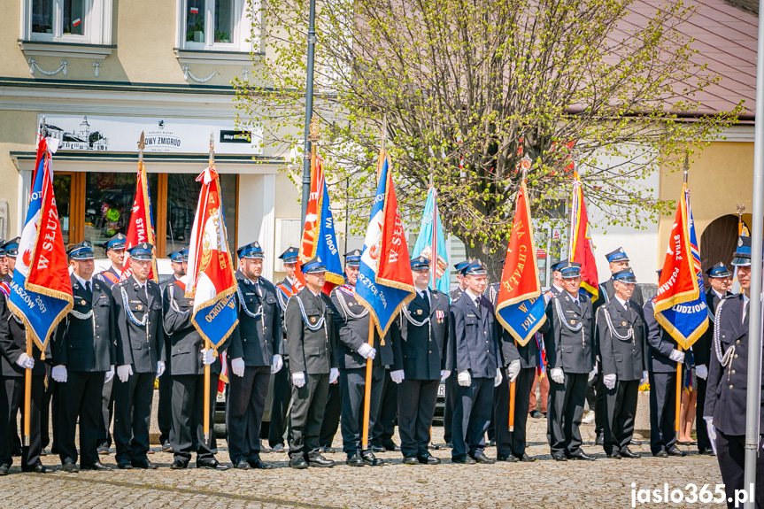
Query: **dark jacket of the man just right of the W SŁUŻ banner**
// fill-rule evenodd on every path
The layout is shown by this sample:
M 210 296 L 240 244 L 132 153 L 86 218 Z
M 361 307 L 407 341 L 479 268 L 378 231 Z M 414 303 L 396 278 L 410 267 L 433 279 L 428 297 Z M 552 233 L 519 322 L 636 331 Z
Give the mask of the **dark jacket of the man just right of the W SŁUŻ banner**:
M 92 297 L 72 274 L 74 307 L 58 324 L 51 343 L 53 366 L 69 371 L 109 371 L 117 361 L 114 312 L 117 307 L 111 287 L 93 278 Z M 83 315 L 90 316 L 82 318 Z

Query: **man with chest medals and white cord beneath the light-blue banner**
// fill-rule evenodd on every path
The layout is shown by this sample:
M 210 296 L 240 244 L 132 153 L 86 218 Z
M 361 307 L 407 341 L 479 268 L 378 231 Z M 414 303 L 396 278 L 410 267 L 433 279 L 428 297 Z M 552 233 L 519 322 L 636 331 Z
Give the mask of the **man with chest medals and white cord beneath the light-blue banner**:
M 429 289 L 429 260 L 411 260 L 416 297 L 397 319 L 400 341 L 394 343 L 391 373 L 402 375 L 398 387 L 397 415 L 400 450 L 406 465 L 437 465 L 428 451 L 429 432 L 435 416 L 437 388 L 451 374 L 445 368 L 448 347 L 448 296 Z

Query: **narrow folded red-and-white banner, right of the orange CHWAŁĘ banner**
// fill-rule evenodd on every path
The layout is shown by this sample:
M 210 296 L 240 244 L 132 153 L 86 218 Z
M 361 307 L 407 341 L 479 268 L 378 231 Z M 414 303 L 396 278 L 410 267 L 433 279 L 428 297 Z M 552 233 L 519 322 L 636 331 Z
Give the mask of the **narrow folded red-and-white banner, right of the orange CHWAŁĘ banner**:
M 573 202 L 570 206 L 570 243 L 568 245 L 570 261 L 581 264 L 581 288 L 585 289 L 592 302 L 597 300 L 599 285 L 597 282 L 597 262 L 589 235 L 589 218 L 583 203 L 583 189 L 578 172 L 573 172 Z

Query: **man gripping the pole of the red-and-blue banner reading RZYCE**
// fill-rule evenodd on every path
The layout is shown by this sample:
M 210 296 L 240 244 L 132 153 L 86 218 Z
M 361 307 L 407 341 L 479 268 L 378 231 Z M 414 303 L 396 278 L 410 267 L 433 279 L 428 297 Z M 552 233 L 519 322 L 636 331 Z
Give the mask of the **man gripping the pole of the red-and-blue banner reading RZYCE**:
M 393 327 L 382 339 L 374 328 L 374 346 L 368 343 L 368 310 L 356 299 L 355 283 L 358 266 L 345 266 L 348 282 L 332 290 L 332 304 L 336 309 L 337 363 L 340 368 L 340 398 L 342 412 L 340 428 L 343 434 L 343 451 L 351 467 L 368 465 L 378 467 L 384 460 L 376 458 L 371 449 L 362 450 L 364 420 L 364 391 L 366 388 L 367 359 L 372 360 L 371 397 L 369 399 L 369 436 L 379 414 L 382 402 L 385 366 L 391 366 L 393 359 Z M 396 328 L 397 333 L 397 328 Z M 397 334 L 396 334 L 397 335 Z M 400 380 L 397 381 L 400 383 Z M 371 443 L 368 444 L 371 446 Z

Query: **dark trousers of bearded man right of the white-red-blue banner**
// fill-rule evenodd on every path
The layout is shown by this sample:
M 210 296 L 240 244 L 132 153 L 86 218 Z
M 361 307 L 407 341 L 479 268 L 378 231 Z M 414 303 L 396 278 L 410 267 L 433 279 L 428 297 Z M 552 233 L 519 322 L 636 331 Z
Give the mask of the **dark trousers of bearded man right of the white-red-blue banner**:
M 243 376 L 236 376 L 230 368 L 228 373 L 228 456 L 235 465 L 242 459 L 254 461 L 260 457 L 260 425 L 266 409 L 271 368 L 245 366 Z

